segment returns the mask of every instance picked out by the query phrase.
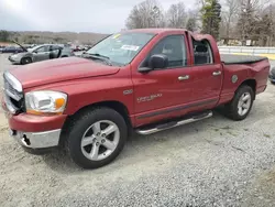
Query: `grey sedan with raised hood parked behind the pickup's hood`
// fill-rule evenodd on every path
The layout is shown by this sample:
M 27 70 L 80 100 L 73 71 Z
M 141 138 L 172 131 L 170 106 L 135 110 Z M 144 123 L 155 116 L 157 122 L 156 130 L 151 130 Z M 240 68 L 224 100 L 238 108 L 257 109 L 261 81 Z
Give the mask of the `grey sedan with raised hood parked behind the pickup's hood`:
M 21 47 L 24 52 L 9 56 L 9 61 L 12 64 L 25 65 L 33 62 L 74 56 L 73 50 L 54 44 L 36 45 L 31 48 Z

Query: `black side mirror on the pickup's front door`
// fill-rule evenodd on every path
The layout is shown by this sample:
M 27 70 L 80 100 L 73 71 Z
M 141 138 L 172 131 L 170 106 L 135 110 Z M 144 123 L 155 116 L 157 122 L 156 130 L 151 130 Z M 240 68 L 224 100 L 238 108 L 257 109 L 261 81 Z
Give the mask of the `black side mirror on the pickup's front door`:
M 148 73 L 154 69 L 162 69 L 166 68 L 168 66 L 168 57 L 163 54 L 158 55 L 152 55 L 148 59 L 148 66 L 147 67 L 140 67 L 140 73 Z

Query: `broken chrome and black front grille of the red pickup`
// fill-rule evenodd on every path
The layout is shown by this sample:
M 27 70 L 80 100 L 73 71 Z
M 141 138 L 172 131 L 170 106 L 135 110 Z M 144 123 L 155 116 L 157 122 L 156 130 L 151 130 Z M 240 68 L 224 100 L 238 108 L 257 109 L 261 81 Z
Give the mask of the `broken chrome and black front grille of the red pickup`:
M 8 72 L 3 75 L 4 101 L 11 113 L 19 113 L 23 109 L 23 92 L 14 88 L 14 85 L 19 85 L 19 81 L 12 83 L 13 79 L 9 78 L 9 76 L 11 75 Z M 22 86 L 20 85 L 20 87 Z

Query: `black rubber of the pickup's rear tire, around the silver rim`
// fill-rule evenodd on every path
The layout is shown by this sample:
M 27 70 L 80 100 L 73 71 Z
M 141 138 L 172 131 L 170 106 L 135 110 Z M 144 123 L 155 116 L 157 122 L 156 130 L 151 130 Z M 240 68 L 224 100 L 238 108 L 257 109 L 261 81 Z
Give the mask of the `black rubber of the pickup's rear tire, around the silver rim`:
M 239 100 L 240 98 L 242 97 L 243 94 L 245 92 L 249 92 L 251 95 L 251 106 L 250 106 L 250 109 L 249 111 L 244 115 L 244 116 L 241 116 L 239 115 L 238 112 L 238 103 L 239 103 Z M 254 102 L 254 91 L 253 89 L 250 87 L 250 86 L 241 86 L 237 92 L 235 92 L 235 96 L 233 98 L 233 100 L 231 101 L 231 103 L 228 106 L 228 112 L 229 112 L 229 117 L 233 120 L 237 120 L 237 121 L 241 121 L 241 120 L 244 120 L 249 115 L 250 115 L 250 111 L 253 107 L 253 102 Z

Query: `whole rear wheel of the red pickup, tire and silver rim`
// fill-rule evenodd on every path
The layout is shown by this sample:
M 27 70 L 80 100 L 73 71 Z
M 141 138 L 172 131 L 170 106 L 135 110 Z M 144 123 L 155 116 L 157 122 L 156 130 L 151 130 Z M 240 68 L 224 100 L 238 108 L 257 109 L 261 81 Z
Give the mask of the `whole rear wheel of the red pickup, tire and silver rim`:
M 234 121 L 244 120 L 249 116 L 249 113 L 252 109 L 254 97 L 255 97 L 255 92 L 253 91 L 253 89 L 250 86 L 246 86 L 246 85 L 241 86 L 237 90 L 235 96 L 233 97 L 231 102 L 226 105 L 226 108 L 224 108 L 226 116 Z M 240 101 L 242 98 L 248 99 L 248 100 L 242 101 L 242 103 L 241 103 Z M 241 112 L 240 108 L 243 109 L 242 112 Z

